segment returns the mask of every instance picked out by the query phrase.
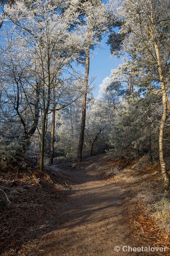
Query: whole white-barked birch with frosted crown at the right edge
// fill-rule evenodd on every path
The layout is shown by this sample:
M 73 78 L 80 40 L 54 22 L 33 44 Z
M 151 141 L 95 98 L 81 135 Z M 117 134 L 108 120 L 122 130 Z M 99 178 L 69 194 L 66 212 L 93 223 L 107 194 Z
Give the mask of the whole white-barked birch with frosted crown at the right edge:
M 166 0 L 116 0 L 112 1 L 114 15 L 121 19 L 121 31 L 127 39 L 133 35 L 140 39 L 140 45 L 150 58 L 150 64 L 156 66 L 162 96 L 162 116 L 159 128 L 159 159 L 164 178 L 165 192 L 170 191 L 170 177 L 167 173 L 163 153 L 164 127 L 169 106 L 167 97 L 167 74 L 169 73 L 169 18 L 170 3 Z M 167 49 L 167 50 L 166 50 Z M 166 72 L 165 72 L 166 70 Z

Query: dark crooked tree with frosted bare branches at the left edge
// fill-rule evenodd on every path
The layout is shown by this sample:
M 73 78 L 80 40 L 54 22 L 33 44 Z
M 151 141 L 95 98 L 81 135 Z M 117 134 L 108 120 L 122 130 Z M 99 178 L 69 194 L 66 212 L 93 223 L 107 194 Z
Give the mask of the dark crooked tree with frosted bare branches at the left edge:
M 26 41 L 15 34 L 14 28 L 3 31 L 2 43 L 0 74 L 3 92 L 1 97 L 5 103 L 2 102 L 2 111 L 5 113 L 8 107 L 6 114 L 11 122 L 20 122 L 22 125 L 20 133 L 23 134 L 26 151 L 39 121 L 39 79 L 30 70 L 31 55 L 25 52 Z

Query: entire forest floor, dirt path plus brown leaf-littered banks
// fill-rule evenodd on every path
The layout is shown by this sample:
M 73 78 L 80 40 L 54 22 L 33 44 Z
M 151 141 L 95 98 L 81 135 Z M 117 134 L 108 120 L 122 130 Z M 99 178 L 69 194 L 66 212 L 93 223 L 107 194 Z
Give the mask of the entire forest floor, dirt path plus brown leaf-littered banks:
M 168 244 L 134 200 L 144 186 L 160 185 L 160 167 L 139 172 L 133 164 L 103 154 L 39 176 L 3 173 L 0 189 L 12 196 L 9 205 L 1 202 L 0 256 L 170 255 L 122 251 Z

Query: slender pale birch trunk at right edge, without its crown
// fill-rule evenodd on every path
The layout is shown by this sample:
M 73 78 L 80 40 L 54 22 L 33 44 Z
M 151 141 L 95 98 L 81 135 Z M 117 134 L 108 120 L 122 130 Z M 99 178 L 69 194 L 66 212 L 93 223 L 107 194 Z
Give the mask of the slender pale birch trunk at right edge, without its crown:
M 159 47 L 156 41 L 154 41 L 154 47 L 155 47 L 156 58 L 158 63 L 158 71 L 159 71 L 161 93 L 162 93 L 162 106 L 163 106 L 163 113 L 161 116 L 161 125 L 159 130 L 159 161 L 161 165 L 161 173 L 164 178 L 164 192 L 168 194 L 170 193 L 170 177 L 167 172 L 166 163 L 164 161 L 164 152 L 163 152 L 164 126 L 167 119 L 167 91 L 166 91 L 166 86 L 164 81 L 164 72 L 161 66 Z

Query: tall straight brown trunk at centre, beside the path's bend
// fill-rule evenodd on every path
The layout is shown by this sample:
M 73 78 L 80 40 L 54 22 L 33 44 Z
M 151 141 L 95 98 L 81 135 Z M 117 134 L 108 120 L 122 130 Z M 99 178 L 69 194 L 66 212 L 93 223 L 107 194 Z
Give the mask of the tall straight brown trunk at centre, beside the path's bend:
M 83 148 L 84 133 L 85 133 L 85 116 L 86 116 L 86 99 L 87 99 L 87 88 L 88 88 L 89 62 L 90 62 L 90 44 L 87 43 L 86 51 L 85 51 L 85 81 L 84 81 L 84 90 L 83 90 L 83 96 L 82 96 L 82 119 L 81 119 L 81 125 L 80 125 L 77 163 L 82 161 L 82 148 Z

